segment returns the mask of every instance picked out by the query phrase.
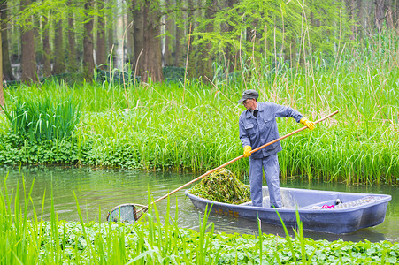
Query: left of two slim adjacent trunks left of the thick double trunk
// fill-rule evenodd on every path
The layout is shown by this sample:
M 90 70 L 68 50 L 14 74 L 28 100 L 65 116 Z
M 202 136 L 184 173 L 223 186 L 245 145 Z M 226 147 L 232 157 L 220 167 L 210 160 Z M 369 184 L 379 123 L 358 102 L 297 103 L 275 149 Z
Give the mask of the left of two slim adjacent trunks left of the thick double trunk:
M 93 57 L 93 18 L 89 18 L 88 14 L 93 8 L 93 0 L 86 0 L 85 14 L 86 23 L 84 23 L 83 36 L 83 73 L 87 80 L 93 79 L 94 57 Z

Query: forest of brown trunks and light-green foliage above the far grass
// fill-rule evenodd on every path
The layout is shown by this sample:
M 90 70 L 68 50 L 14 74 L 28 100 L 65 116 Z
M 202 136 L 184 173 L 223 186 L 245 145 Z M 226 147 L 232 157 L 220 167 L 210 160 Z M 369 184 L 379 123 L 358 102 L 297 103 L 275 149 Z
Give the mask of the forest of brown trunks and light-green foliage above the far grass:
M 215 64 L 225 73 L 240 70 L 240 59 L 334 64 L 343 46 L 353 49 L 383 27 L 397 30 L 399 21 L 397 0 L 0 3 L 7 81 L 64 72 L 90 79 L 95 67 L 123 70 L 127 63 L 156 82 L 164 80 L 163 66 L 187 67 L 190 77 L 206 80 Z

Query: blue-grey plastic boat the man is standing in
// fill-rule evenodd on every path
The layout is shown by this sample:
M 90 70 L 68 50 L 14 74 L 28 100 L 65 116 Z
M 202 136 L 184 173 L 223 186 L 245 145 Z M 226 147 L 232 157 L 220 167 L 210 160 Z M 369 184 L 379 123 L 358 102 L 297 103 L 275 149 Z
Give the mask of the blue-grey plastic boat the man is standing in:
M 211 208 L 211 212 L 224 216 L 257 220 L 265 223 L 296 227 L 296 211 L 303 223 L 303 229 L 334 234 L 345 234 L 358 229 L 371 227 L 384 222 L 388 201 L 392 199 L 386 194 L 340 193 L 327 191 L 280 188 L 283 208 L 270 208 L 268 204 L 267 186 L 263 187 L 264 207 L 253 207 L 250 202 L 234 205 L 218 201 L 209 201 L 197 197 L 189 190 L 186 195 L 196 208 Z M 334 205 L 340 199 L 344 203 Z M 334 205 L 334 208 L 321 208 Z M 277 212 L 280 214 L 277 214 Z

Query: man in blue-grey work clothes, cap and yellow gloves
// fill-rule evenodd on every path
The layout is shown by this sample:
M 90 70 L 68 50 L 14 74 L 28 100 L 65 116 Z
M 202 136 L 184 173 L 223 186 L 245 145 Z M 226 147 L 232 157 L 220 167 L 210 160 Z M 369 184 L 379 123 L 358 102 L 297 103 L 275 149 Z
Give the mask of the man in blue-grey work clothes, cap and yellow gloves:
M 247 110 L 239 118 L 240 139 L 244 148 L 244 157 L 249 157 L 249 184 L 252 205 L 262 207 L 262 178 L 265 177 L 270 195 L 270 207 L 282 208 L 280 195 L 280 167 L 277 153 L 282 150 L 280 141 L 251 154 L 252 148 L 258 148 L 269 141 L 279 138 L 276 117 L 292 117 L 296 122 L 313 130 L 315 124 L 298 111 L 273 102 L 257 102 L 259 94 L 255 90 L 246 90 L 237 103 L 243 103 Z

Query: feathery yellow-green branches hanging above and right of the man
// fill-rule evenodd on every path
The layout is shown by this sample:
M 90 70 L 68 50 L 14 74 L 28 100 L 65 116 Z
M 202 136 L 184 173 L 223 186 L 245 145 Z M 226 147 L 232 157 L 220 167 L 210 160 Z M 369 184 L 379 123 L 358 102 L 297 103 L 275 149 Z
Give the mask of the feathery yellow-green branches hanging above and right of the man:
M 334 57 L 337 43 L 349 42 L 345 14 L 342 1 L 243 0 L 218 11 L 214 19 L 202 19 L 193 44 L 211 42 L 211 52 L 221 54 L 223 64 L 228 50 L 240 53 L 238 64 L 245 64 L 245 58 L 255 64 L 261 58 L 299 64 L 311 57 Z M 225 27 L 207 32 L 209 25 Z

